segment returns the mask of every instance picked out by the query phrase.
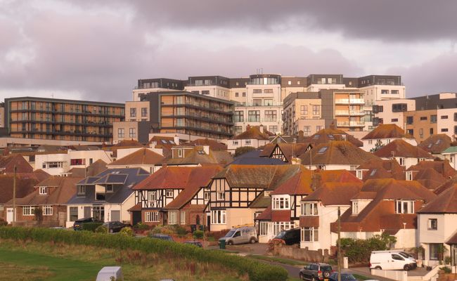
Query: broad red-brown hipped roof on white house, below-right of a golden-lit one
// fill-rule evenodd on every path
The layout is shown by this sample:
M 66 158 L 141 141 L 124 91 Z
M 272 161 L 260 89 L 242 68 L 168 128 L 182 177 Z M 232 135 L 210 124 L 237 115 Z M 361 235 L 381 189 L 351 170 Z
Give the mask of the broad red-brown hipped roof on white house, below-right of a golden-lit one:
M 374 152 L 374 155 L 378 157 L 410 157 L 410 158 L 425 158 L 433 159 L 430 153 L 426 152 L 422 148 L 406 143 L 403 140 L 394 140 L 382 148 Z

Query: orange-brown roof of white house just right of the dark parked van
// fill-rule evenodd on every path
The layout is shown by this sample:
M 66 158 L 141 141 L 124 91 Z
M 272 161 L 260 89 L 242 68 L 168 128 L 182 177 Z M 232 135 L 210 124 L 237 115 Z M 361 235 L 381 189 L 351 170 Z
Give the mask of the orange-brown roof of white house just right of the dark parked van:
M 361 181 L 352 183 L 324 183 L 302 201 L 321 201 L 323 205 L 350 205 L 362 188 Z

